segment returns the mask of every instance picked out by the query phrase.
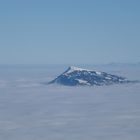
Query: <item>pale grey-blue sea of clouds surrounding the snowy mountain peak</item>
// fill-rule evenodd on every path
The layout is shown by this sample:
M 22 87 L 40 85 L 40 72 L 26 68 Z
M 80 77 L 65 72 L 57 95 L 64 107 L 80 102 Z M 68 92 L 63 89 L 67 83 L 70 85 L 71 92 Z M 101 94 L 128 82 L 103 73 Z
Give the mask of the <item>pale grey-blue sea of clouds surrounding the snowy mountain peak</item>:
M 140 80 L 139 68 L 94 68 Z M 0 139 L 140 138 L 140 83 L 103 87 L 44 84 L 65 69 L 64 66 L 1 67 Z

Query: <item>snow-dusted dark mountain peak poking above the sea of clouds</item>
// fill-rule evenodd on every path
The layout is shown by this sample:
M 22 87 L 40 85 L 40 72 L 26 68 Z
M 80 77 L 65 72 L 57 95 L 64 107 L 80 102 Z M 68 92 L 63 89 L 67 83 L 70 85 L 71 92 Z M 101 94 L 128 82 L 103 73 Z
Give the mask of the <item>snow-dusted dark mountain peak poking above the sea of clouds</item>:
M 131 81 L 121 76 L 71 66 L 56 79 L 49 82 L 49 84 L 57 83 L 66 86 L 102 86 L 129 82 Z

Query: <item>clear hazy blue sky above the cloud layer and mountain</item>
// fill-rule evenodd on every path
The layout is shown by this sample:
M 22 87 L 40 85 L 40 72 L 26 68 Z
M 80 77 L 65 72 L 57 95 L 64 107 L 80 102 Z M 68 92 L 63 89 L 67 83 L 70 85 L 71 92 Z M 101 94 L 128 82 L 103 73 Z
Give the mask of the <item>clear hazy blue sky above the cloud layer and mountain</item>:
M 140 61 L 139 0 L 1 0 L 0 64 Z

